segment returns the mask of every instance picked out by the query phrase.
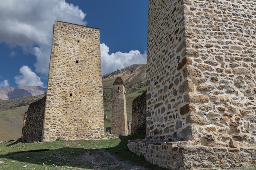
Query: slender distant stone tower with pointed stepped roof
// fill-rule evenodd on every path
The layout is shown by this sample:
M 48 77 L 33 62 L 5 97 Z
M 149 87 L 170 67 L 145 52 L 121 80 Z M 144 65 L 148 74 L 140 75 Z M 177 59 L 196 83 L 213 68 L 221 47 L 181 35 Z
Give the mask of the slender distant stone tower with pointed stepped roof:
M 112 127 L 111 134 L 117 136 L 128 135 L 126 98 L 124 82 L 121 77 L 117 77 L 113 83 L 113 105 L 112 105 Z

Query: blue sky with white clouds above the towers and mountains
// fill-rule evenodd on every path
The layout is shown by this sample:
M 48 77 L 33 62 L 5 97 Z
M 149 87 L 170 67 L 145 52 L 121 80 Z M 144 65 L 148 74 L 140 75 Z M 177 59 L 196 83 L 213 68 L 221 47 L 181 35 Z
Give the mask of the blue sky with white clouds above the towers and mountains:
M 0 88 L 47 86 L 55 20 L 100 29 L 103 75 L 146 64 L 148 0 L 2 0 Z

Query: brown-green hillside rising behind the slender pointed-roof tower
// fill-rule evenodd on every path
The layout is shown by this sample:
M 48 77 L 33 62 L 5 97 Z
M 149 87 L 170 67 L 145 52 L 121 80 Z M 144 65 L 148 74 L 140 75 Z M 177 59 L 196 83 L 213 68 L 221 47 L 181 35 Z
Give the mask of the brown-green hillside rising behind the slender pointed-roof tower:
M 111 126 L 113 83 L 119 76 L 123 79 L 126 88 L 126 109 L 129 121 L 132 117 L 132 101 L 146 90 L 146 64 L 133 64 L 103 75 L 103 101 L 104 114 L 108 117 L 108 123 L 105 122 L 107 127 Z

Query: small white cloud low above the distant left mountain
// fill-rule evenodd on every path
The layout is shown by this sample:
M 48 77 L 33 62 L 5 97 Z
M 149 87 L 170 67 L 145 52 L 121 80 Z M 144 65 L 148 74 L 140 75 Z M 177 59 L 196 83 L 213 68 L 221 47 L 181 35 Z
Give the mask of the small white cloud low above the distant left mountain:
M 18 87 L 22 86 L 43 86 L 40 77 L 36 75 L 28 66 L 22 66 L 20 68 L 20 74 L 14 77 Z

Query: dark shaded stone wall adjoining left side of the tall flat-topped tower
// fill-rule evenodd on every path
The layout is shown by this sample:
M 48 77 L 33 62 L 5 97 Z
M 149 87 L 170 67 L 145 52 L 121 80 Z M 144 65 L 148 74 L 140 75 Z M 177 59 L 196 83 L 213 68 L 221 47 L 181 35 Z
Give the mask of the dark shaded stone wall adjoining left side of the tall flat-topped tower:
M 33 142 L 41 141 L 43 132 L 43 119 L 45 113 L 45 99 L 42 99 L 29 104 L 29 108 L 24 115 L 22 128 L 22 141 Z

